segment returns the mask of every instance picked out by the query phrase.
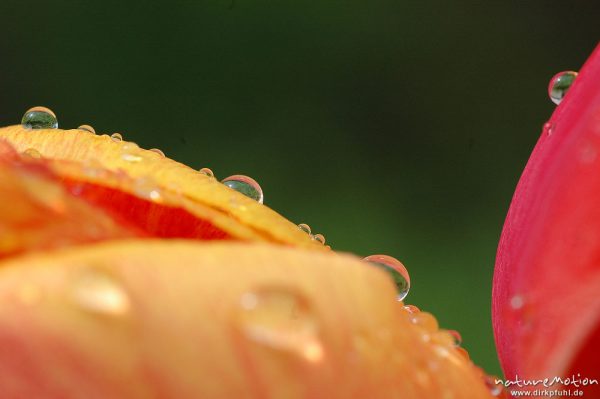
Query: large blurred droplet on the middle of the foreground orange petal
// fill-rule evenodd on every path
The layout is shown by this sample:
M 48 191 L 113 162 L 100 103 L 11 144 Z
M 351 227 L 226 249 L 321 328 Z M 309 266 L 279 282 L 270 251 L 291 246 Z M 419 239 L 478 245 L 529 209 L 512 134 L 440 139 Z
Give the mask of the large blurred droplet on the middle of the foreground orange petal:
M 244 294 L 239 322 L 251 341 L 317 363 L 324 349 L 307 300 L 288 289 L 263 288 Z

